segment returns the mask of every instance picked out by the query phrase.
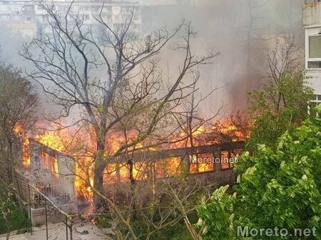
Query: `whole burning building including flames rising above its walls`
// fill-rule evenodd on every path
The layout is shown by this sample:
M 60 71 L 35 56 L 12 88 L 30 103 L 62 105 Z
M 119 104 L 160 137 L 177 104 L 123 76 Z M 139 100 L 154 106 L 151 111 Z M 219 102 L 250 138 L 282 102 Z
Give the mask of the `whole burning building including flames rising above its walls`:
M 59 132 L 59 130 L 57 130 Z M 93 184 L 91 165 L 93 156 L 87 152 L 76 152 L 65 147 L 63 140 L 67 133 L 55 135 L 45 132 L 34 139 L 25 140 L 23 145 L 24 169 L 19 170 L 21 178 L 26 179 L 34 189 L 48 197 L 51 203 L 64 212 L 78 214 L 90 206 L 93 191 L 88 184 L 88 177 Z M 141 148 L 128 155 L 113 157 L 108 161 L 103 174 L 103 194 L 116 204 L 127 204 L 132 201 L 134 192 L 139 193 L 142 202 L 158 194 L 163 179 L 175 179 L 185 176 L 193 184 L 234 184 L 236 176 L 233 172 L 235 160 L 242 152 L 249 132 L 243 125 L 235 124 L 235 120 L 215 122 L 210 127 L 198 127 L 193 133 L 193 146 L 184 142 L 185 136 L 180 134 L 178 142 L 162 145 L 157 148 Z M 61 139 L 63 138 L 63 140 Z M 81 135 L 84 141 L 85 136 Z M 111 142 L 108 149 L 118 149 L 123 144 L 121 135 L 108 138 Z M 68 142 L 68 141 L 67 141 Z M 91 146 L 93 147 L 93 146 Z M 73 157 L 71 157 L 73 156 Z M 87 175 L 86 169 L 89 170 Z M 26 191 L 26 187 L 21 187 Z M 39 199 L 32 195 L 36 202 Z M 28 199 L 27 199 L 28 200 Z

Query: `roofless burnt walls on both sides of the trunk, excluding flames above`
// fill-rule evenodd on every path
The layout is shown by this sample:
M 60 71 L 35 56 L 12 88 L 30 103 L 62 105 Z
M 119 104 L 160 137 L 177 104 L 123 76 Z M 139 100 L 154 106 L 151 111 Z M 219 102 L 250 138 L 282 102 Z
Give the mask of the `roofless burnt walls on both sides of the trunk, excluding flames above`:
M 234 162 L 230 160 L 235 160 L 244 147 L 244 142 L 224 142 L 135 152 L 131 160 L 118 157 L 106 167 L 104 194 L 116 203 L 128 204 L 133 197 L 134 187 L 142 202 L 147 203 L 163 187 L 162 179 L 172 179 L 178 175 L 187 176 L 190 184 L 199 181 L 202 184 L 232 185 L 236 175 L 233 172 Z M 33 203 L 30 214 L 34 224 L 44 220 L 44 214 L 39 214 L 39 211 L 44 213 L 40 204 L 42 194 L 64 212 L 78 214 L 78 203 L 84 203 L 78 201 L 76 194 L 75 161 L 36 140 L 29 140 L 29 150 L 30 166 L 17 174 L 24 179 L 19 186 L 24 192 L 23 196 L 31 197 L 25 200 Z M 32 186 L 31 189 L 24 182 Z M 41 195 L 37 192 L 41 192 Z M 36 217 L 32 216 L 33 212 Z

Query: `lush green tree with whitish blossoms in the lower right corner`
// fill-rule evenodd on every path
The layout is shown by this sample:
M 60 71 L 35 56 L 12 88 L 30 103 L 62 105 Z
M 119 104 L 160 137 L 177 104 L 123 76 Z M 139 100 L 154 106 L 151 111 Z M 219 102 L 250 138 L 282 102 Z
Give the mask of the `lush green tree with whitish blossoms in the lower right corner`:
M 321 106 L 317 111 L 321 113 Z M 277 226 L 289 232 L 315 227 L 317 236 L 282 239 L 321 239 L 320 145 L 321 118 L 314 118 L 305 120 L 292 132 L 285 132 L 272 148 L 259 145 L 253 156 L 245 152 L 236 167 L 242 177 L 234 188 L 235 200 L 220 189 L 214 192 L 209 204 L 198 209 L 210 230 L 203 234 L 203 239 L 236 239 L 237 226 L 250 229 Z

